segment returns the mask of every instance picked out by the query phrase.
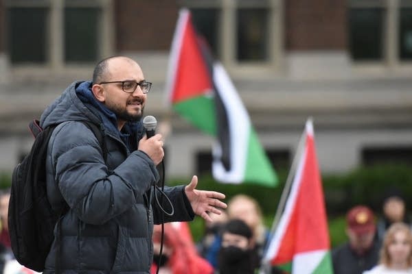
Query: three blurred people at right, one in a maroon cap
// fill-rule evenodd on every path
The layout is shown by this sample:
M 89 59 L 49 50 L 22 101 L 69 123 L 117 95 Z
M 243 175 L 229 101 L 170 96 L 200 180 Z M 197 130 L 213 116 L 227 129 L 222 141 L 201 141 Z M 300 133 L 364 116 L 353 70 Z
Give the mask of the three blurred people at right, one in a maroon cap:
M 334 274 L 412 273 L 412 230 L 406 201 L 398 190 L 388 190 L 382 214 L 355 206 L 346 215 L 348 241 L 332 249 Z

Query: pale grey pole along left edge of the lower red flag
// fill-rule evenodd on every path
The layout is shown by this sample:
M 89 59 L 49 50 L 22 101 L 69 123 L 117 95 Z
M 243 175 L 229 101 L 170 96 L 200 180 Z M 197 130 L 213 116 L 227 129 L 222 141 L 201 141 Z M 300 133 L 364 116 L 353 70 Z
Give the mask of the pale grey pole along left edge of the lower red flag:
M 309 120 L 309 119 L 308 119 Z M 277 206 L 276 209 L 276 214 L 275 214 L 275 219 L 273 219 L 273 225 L 271 228 L 271 235 L 275 233 L 275 229 L 277 228 L 277 225 L 279 223 L 280 216 L 282 216 L 282 212 L 284 211 L 285 205 L 286 205 L 286 200 L 288 198 L 288 194 L 290 191 L 290 187 L 292 186 L 293 182 L 293 175 L 295 175 L 295 171 L 297 168 L 298 161 L 301 155 L 302 150 L 305 147 L 305 142 L 306 142 L 306 127 L 301 135 L 301 138 L 299 140 L 299 145 L 297 146 L 296 153 L 295 153 L 295 158 L 293 158 L 292 166 L 290 166 L 290 171 L 288 173 L 288 177 L 286 178 L 286 183 L 284 186 L 284 190 L 282 192 L 282 195 L 280 197 L 279 205 Z

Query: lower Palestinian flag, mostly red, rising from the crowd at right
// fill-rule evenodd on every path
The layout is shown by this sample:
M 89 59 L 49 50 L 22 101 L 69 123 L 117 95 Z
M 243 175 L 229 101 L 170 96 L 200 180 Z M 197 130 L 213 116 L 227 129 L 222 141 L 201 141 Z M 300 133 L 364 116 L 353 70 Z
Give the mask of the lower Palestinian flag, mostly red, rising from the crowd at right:
M 312 121 L 306 122 L 304 147 L 264 263 L 288 273 L 333 273 L 330 240 Z

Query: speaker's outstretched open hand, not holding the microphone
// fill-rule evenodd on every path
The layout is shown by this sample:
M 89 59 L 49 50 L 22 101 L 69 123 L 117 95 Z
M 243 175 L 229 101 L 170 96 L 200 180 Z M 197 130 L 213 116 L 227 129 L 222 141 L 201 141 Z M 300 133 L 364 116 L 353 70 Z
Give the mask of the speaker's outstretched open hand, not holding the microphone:
M 211 222 L 213 220 L 207 214 L 208 212 L 220 214 L 218 208 L 227 208 L 226 203 L 220 201 L 220 199 L 225 199 L 225 195 L 216 191 L 197 190 L 197 182 L 198 178 L 194 175 L 190 184 L 185 186 L 187 199 L 189 199 L 194 213 Z

